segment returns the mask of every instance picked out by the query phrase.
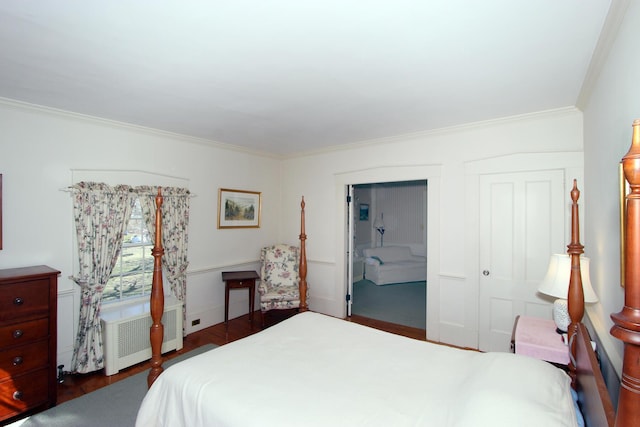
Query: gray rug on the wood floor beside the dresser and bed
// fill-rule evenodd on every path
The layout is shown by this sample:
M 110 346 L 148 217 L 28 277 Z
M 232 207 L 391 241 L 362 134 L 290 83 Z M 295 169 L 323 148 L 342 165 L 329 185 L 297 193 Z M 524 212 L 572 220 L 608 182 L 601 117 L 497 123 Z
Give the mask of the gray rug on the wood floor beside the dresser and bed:
M 167 368 L 216 348 L 206 344 L 163 363 Z M 147 393 L 148 370 L 91 393 L 64 402 L 44 412 L 10 424 L 11 427 L 126 427 L 134 426 L 138 408 Z

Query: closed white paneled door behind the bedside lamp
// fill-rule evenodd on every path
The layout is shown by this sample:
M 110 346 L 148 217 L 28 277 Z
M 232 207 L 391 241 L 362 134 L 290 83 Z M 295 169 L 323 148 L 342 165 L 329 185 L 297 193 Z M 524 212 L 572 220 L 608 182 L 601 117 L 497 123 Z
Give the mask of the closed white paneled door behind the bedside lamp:
M 566 197 L 565 197 L 566 196 Z M 564 173 L 480 176 L 479 347 L 509 351 L 517 315 L 547 317 L 537 288 L 552 253 L 565 251 Z

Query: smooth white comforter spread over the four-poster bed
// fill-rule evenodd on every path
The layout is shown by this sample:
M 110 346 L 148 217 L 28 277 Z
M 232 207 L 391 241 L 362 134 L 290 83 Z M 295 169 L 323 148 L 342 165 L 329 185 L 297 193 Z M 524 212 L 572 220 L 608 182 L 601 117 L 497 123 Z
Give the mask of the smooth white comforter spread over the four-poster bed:
M 146 426 L 575 426 L 569 377 L 306 312 L 169 367 Z

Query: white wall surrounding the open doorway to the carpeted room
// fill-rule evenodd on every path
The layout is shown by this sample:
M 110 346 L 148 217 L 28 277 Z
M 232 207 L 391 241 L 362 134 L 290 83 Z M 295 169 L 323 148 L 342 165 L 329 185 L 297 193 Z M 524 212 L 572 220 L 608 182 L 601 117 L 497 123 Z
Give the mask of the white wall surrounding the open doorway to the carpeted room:
M 440 282 L 455 282 L 463 292 L 457 307 L 441 306 L 439 296 L 429 293 L 428 316 L 471 315 L 446 332 L 439 330 L 439 318 L 428 319 L 427 333 L 451 343 L 477 342 L 474 295 L 479 272 L 472 267 L 477 262 L 468 258 L 477 257 L 478 248 L 467 239 L 465 226 L 473 222 L 469 218 L 478 215 L 478 208 L 467 204 L 468 193 L 476 189 L 465 187 L 465 164 L 518 153 L 572 151 L 581 159 L 582 114 L 567 109 L 287 159 L 283 206 L 294 204 L 301 194 L 307 201 L 311 308 L 336 316 L 345 312 L 344 184 L 428 179 L 428 292 L 437 290 Z M 297 212 L 283 207 L 282 215 L 284 235 L 295 235 Z

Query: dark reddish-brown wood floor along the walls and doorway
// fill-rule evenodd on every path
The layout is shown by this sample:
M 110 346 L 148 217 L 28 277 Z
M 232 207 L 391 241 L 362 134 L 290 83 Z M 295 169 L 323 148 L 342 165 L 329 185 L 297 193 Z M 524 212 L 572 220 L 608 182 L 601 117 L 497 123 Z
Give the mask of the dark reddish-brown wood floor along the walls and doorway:
M 271 318 L 267 320 L 267 325 L 280 321 L 281 318 Z M 411 328 L 403 325 L 395 325 L 392 323 L 382 322 L 379 320 L 367 319 L 360 316 L 352 316 L 347 320 L 363 325 L 367 325 L 376 329 L 404 335 L 410 338 L 425 340 L 426 332 L 423 329 Z M 224 345 L 229 342 L 244 338 L 261 330 L 260 313 L 256 312 L 253 319 L 253 325 L 249 322 L 249 315 L 245 315 L 229 321 L 228 333 L 225 332 L 224 323 L 202 329 L 198 332 L 189 334 L 184 339 L 183 348 L 179 351 L 172 351 L 164 355 L 164 360 L 172 359 L 176 356 L 191 351 L 205 344 Z M 66 402 L 82 396 L 83 394 L 92 392 L 101 387 L 113 384 L 121 379 L 127 378 L 137 373 L 148 371 L 149 363 L 143 362 L 138 365 L 123 369 L 115 375 L 106 376 L 103 371 L 93 372 L 90 374 L 74 374 L 65 375 L 64 381 L 58 385 L 58 403 Z

